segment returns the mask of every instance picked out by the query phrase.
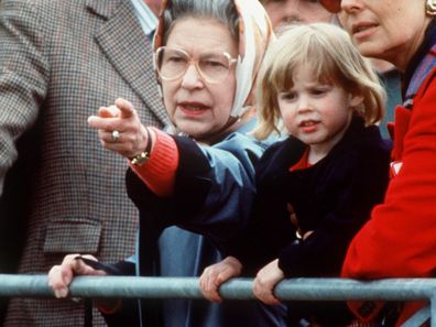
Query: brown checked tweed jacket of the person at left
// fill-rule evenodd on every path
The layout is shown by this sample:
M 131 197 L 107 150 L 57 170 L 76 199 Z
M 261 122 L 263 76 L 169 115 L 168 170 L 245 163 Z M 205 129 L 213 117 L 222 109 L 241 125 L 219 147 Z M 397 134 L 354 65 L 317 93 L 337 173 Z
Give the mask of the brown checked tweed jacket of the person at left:
M 66 253 L 107 262 L 132 254 L 138 212 L 126 160 L 87 127 L 117 97 L 132 101 L 143 123 L 167 122 L 131 2 L 0 6 L 0 270 L 12 272 L 15 259 L 20 273 L 47 273 Z M 14 298 L 4 326 L 80 326 L 83 315 L 69 301 Z

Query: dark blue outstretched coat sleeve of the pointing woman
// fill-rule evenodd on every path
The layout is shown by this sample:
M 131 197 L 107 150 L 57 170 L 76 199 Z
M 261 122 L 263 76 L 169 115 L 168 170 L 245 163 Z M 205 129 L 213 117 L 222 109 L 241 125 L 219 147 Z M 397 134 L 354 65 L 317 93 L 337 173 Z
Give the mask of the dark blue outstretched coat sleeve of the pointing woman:
M 254 165 L 266 143 L 232 133 L 212 146 L 174 137 L 179 165 L 174 194 L 159 197 L 131 171 L 129 197 L 140 210 L 141 233 L 170 226 L 205 235 L 219 246 L 244 228 L 254 198 Z

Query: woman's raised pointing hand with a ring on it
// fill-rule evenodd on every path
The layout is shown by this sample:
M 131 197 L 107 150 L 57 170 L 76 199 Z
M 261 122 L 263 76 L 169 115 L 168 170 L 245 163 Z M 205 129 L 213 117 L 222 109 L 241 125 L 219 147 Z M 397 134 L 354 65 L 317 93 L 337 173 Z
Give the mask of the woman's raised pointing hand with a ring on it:
M 102 146 L 128 159 L 143 152 L 151 141 L 133 105 L 124 99 L 101 107 L 98 116 L 88 118 L 88 126 L 98 130 Z

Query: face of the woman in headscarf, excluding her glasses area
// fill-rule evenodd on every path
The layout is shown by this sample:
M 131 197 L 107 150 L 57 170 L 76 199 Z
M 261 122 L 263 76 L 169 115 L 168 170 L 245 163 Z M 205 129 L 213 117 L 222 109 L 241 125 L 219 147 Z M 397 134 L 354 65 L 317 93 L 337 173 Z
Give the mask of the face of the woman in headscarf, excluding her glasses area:
M 238 56 L 238 44 L 229 29 L 210 19 L 181 19 L 173 26 L 165 46 L 184 51 L 194 63 L 211 51 Z M 207 141 L 216 137 L 230 117 L 236 90 L 235 76 L 233 64 L 222 80 L 209 83 L 199 74 L 196 65 L 190 64 L 181 78 L 162 79 L 164 103 L 172 122 L 197 140 Z

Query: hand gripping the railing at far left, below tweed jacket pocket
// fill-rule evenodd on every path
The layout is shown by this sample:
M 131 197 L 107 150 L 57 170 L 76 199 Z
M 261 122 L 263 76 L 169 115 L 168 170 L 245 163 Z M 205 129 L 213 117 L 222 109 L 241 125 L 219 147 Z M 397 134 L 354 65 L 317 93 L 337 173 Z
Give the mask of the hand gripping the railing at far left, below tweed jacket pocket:
M 77 259 L 84 257 L 97 261 L 92 255 L 68 254 L 64 258 L 59 265 L 54 265 L 48 272 L 48 286 L 57 298 L 67 297 L 69 293 L 69 284 L 76 275 L 106 275 L 101 270 L 95 270 L 87 265 L 83 260 Z

